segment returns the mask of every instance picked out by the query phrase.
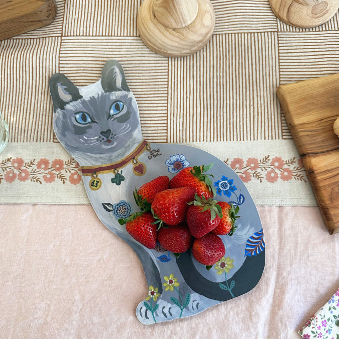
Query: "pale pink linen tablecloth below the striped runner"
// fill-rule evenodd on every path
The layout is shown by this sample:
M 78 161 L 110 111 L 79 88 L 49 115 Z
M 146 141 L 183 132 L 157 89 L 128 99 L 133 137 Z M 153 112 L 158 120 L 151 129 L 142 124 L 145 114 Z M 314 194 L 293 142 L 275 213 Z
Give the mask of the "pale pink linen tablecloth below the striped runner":
M 318 207 L 259 206 L 266 265 L 249 293 L 192 317 L 143 325 L 137 255 L 90 205 L 0 205 L 4 338 L 300 338 L 339 286 L 338 235 Z

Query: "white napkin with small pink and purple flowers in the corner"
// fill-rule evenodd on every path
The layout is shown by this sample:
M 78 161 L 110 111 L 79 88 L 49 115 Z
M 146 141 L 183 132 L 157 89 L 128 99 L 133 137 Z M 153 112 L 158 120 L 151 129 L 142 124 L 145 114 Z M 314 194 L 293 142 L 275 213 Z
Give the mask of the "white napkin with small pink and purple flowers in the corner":
M 339 288 L 298 333 L 305 339 L 339 339 Z

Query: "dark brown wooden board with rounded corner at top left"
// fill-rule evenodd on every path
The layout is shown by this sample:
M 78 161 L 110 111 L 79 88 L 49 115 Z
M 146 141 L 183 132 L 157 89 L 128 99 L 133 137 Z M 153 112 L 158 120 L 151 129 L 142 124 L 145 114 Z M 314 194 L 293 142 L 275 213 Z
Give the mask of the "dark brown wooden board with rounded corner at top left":
M 55 0 L 1 0 L 0 40 L 49 25 L 56 13 Z

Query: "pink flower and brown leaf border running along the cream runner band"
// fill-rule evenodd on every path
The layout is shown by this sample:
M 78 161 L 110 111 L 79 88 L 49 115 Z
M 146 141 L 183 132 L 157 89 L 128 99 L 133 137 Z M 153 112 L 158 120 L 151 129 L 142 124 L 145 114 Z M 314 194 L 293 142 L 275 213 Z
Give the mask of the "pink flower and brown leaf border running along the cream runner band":
M 268 181 L 275 183 L 278 180 L 298 180 L 307 182 L 306 172 L 301 159 L 291 158 L 284 160 L 281 157 L 265 156 L 263 159 L 234 158 L 224 161 L 229 165 L 244 182 L 252 179 L 259 182 Z M 25 162 L 23 158 L 7 158 L 0 163 L 0 184 L 12 183 L 16 180 L 25 182 L 30 180 L 42 184 L 51 183 L 56 180 L 63 184 L 71 183 L 77 185 L 81 182 L 79 164 L 73 159 L 68 160 L 42 158 Z

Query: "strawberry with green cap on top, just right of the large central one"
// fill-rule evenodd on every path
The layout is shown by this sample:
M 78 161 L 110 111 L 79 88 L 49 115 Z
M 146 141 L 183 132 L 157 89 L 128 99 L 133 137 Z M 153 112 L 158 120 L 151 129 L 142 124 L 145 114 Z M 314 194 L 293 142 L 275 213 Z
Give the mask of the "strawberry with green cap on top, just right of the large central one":
M 221 207 L 213 198 L 202 199 L 195 194 L 195 200 L 190 203 L 187 210 L 187 224 L 194 238 L 201 238 L 217 227 L 220 222 Z

